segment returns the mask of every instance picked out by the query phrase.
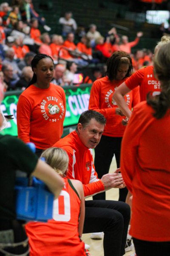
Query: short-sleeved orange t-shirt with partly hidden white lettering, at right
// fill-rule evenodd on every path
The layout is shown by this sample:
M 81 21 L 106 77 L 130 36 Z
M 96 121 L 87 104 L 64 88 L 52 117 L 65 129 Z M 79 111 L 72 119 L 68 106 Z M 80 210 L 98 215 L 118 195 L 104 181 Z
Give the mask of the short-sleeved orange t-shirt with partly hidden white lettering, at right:
M 130 90 L 139 85 L 141 101 L 146 100 L 147 93 L 151 92 L 151 95 L 155 96 L 161 91 L 161 83 L 154 77 L 153 66 L 136 71 L 125 81 L 125 84 Z

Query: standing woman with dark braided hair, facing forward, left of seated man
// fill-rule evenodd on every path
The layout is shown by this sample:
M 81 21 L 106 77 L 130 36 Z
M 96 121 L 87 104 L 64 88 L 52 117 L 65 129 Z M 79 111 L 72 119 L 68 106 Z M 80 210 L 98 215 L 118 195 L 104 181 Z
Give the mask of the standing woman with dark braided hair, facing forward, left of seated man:
M 31 67 L 34 75 L 17 103 L 17 129 L 18 137 L 24 143 L 34 143 L 40 156 L 62 136 L 65 92 L 51 83 L 54 61 L 50 56 L 35 55 Z

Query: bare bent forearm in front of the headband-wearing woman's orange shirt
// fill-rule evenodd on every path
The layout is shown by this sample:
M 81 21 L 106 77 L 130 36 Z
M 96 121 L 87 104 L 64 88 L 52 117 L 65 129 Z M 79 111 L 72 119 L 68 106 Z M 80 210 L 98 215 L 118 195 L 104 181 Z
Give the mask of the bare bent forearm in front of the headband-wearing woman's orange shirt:
M 113 93 L 113 99 L 116 101 L 116 104 L 120 108 L 120 110 L 127 116 L 128 118 L 131 116 L 131 111 L 128 108 L 124 96 L 129 93 L 130 89 L 127 87 L 125 82 L 123 82 Z

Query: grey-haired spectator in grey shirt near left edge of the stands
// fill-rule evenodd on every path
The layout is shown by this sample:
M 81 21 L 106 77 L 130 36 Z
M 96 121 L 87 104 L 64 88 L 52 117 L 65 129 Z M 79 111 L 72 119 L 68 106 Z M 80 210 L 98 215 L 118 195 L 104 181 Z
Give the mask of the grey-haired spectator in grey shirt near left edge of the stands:
M 13 67 L 13 79 L 19 80 L 21 70 L 19 69 L 16 61 L 14 60 L 14 49 L 9 48 L 6 51 L 6 58 L 3 60 L 3 64 L 10 64 Z

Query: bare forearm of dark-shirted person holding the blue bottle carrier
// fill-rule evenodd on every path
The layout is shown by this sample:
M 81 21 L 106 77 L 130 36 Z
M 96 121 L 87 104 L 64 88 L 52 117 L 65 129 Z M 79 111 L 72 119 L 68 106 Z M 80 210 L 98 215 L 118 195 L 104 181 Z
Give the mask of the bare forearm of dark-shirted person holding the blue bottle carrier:
M 64 182 L 62 177 L 60 177 L 59 174 L 51 168 L 51 166 L 41 160 L 38 160 L 37 166 L 35 167 L 32 175 L 42 180 L 55 195 L 55 198 L 59 196 L 59 193 L 64 186 Z

